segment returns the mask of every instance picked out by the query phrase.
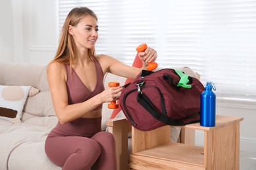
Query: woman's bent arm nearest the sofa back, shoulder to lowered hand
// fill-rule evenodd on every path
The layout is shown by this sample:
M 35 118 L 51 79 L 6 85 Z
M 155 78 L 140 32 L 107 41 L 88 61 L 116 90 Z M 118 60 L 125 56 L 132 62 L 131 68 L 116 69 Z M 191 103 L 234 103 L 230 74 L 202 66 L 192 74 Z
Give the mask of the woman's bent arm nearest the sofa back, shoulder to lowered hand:
M 120 95 L 121 88 L 108 88 L 83 103 L 68 105 L 66 68 L 64 65 L 57 62 L 50 63 L 47 74 L 54 110 L 61 124 L 80 118 L 98 105 L 113 101 L 115 97 Z

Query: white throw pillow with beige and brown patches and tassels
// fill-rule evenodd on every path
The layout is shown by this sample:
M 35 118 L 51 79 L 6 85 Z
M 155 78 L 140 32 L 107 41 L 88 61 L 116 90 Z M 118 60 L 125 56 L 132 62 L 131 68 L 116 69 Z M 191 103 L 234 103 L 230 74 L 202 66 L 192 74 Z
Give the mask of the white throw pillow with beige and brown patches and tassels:
M 17 123 L 21 122 L 22 110 L 31 86 L 0 85 L 0 118 Z

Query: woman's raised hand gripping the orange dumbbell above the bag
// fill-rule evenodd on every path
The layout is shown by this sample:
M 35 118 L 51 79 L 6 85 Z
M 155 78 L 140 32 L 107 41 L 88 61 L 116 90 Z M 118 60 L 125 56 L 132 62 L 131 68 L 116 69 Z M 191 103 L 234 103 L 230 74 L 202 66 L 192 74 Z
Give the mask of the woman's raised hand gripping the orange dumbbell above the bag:
M 154 62 L 158 57 L 158 53 L 153 48 L 146 48 L 144 52 L 139 52 L 139 58 L 143 61 L 143 65 L 148 65 L 148 63 Z

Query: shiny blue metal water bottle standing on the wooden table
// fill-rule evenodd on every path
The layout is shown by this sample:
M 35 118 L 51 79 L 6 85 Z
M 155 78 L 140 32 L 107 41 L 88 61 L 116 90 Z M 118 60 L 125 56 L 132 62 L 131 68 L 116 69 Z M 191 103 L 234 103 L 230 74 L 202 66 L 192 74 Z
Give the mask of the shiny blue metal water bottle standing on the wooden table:
M 216 119 L 216 95 L 212 90 L 216 90 L 213 82 L 207 82 L 205 91 L 200 97 L 200 125 L 201 126 L 215 126 Z

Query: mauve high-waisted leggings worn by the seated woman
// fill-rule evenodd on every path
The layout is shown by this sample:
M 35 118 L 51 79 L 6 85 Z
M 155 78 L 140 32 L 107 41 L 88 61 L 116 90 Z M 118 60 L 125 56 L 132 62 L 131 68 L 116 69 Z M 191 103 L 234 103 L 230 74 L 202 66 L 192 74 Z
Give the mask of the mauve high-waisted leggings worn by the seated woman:
M 116 146 L 114 137 L 111 133 L 106 131 L 99 131 L 88 137 L 88 135 L 67 135 L 70 131 L 62 130 L 77 129 L 78 132 L 83 129 L 92 129 L 92 126 L 98 126 L 100 122 L 95 119 L 80 118 L 77 122 L 72 124 L 57 124 L 51 131 L 45 141 L 45 153 L 53 163 L 62 167 L 63 170 L 78 170 L 78 169 L 96 169 L 96 170 L 116 170 Z M 100 119 L 101 120 L 101 119 Z M 81 124 L 83 122 L 83 124 Z M 60 127 L 62 129 L 60 130 Z M 98 129 L 98 128 L 97 128 Z M 94 132 L 93 130 L 93 132 Z M 56 133 L 58 131 L 58 133 Z M 75 131 L 75 133 L 77 133 Z M 62 132 L 62 135 L 60 135 Z M 86 131 L 88 132 L 88 130 Z M 91 131 L 92 132 L 92 131 Z M 65 134 L 65 135 L 63 135 Z M 83 134 L 84 135 L 84 134 Z

